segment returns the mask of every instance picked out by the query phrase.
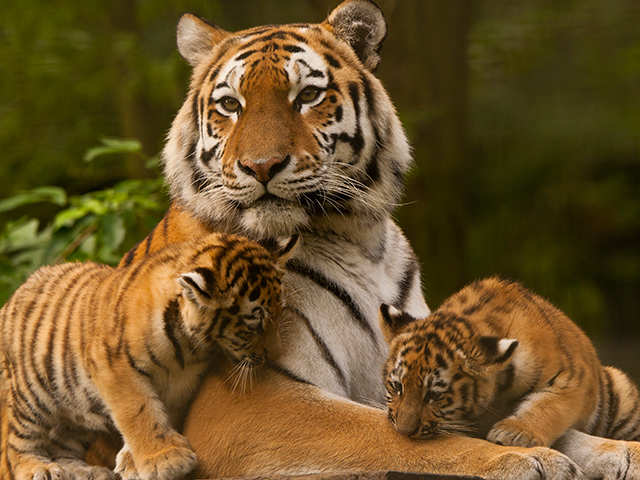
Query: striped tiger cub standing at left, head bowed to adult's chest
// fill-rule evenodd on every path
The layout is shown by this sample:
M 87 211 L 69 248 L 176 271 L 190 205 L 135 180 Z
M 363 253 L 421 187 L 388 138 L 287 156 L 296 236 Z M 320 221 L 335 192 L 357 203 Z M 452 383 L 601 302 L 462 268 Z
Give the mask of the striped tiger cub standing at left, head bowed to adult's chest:
M 211 234 L 130 267 L 43 267 L 0 310 L 9 390 L 6 454 L 20 479 L 113 478 L 81 459 L 90 432 L 117 429 L 116 473 L 178 478 L 196 465 L 173 426 L 216 352 L 241 366 L 277 347 L 281 266 L 270 253 Z

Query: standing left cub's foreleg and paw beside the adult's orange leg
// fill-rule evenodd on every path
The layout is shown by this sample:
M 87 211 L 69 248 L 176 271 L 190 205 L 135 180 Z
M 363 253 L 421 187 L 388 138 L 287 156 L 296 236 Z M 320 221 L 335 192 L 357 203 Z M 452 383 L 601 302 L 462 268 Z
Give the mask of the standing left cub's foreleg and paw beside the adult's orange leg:
M 116 473 L 125 479 L 168 480 L 195 468 L 195 453 L 171 427 L 165 406 L 140 369 L 118 359 L 96 376 L 96 386 L 125 439 Z

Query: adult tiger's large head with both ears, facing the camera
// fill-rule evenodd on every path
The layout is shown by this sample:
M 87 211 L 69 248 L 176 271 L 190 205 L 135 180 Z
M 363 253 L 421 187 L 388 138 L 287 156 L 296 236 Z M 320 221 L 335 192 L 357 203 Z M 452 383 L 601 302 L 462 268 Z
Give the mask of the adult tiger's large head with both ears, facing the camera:
M 185 14 L 177 42 L 191 88 L 163 153 L 174 200 L 253 238 L 386 215 L 411 156 L 372 74 L 385 35 L 369 0 L 319 24 L 235 33 Z

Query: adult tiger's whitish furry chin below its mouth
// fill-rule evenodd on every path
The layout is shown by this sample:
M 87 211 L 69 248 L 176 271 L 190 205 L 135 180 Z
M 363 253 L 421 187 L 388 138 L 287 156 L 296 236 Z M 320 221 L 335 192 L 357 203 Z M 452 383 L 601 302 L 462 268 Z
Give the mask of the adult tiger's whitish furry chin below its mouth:
M 308 227 L 310 217 L 297 203 L 287 200 L 261 200 L 244 208 L 240 224 L 253 238 L 289 236 Z

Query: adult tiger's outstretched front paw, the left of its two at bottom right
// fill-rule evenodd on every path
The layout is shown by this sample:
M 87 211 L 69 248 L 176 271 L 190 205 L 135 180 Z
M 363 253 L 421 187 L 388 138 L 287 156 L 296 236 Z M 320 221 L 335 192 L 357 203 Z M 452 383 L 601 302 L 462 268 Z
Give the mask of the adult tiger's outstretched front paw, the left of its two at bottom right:
M 586 477 L 569 457 L 550 448 L 505 448 L 488 462 L 482 473 L 487 480 L 584 480 Z

